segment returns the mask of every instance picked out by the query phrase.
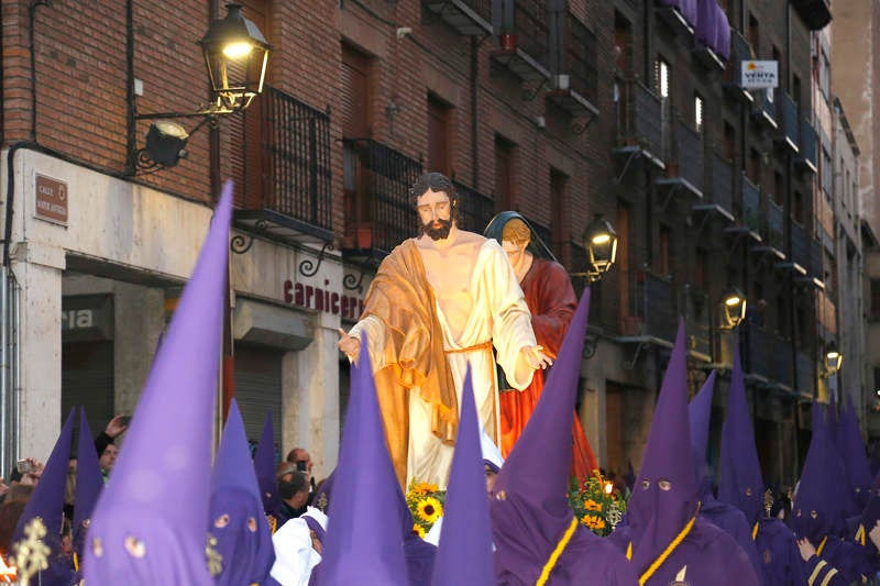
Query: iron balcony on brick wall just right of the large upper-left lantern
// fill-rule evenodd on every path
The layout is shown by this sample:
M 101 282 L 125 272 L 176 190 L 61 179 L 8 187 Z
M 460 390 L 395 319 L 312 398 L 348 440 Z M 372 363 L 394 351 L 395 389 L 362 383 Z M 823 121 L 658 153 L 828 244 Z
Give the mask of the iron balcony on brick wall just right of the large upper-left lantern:
M 245 112 L 260 117 L 260 140 L 243 146 L 235 225 L 283 241 L 332 242 L 330 117 L 273 87 L 260 102 Z

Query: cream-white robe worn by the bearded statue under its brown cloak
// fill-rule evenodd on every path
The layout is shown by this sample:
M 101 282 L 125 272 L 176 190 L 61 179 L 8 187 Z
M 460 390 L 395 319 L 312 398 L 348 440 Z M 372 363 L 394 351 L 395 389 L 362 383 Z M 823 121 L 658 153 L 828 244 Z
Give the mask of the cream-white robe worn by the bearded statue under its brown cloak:
M 510 261 L 495 240 L 488 239 L 481 246 L 469 290 L 473 299 L 473 310 L 466 324 L 457 328 L 461 331 L 458 339 L 452 336 L 440 305 L 436 307 L 443 330 L 443 347 L 447 351 L 461 351 L 491 340 L 507 382 L 516 389 L 526 388 L 531 383 L 532 373 L 529 372 L 527 379 L 517 379 L 516 362 L 524 346 L 537 344 L 531 329 L 531 313 Z M 380 349 L 385 346 L 385 329 L 382 320 L 369 316 L 358 322 L 349 333 L 360 336 L 362 331 L 366 332 L 373 371 L 383 368 L 385 364 L 382 362 Z M 468 364 L 471 364 L 480 422 L 490 438 L 498 443 L 498 385 L 492 353 L 488 350 L 452 352 L 447 354 L 447 358 L 455 383 L 459 412 L 464 375 Z M 410 389 L 407 484 L 416 478 L 437 484 L 444 489 L 452 465 L 453 447 L 444 445 L 431 432 L 430 422 L 431 406 L 421 400 L 418 388 Z

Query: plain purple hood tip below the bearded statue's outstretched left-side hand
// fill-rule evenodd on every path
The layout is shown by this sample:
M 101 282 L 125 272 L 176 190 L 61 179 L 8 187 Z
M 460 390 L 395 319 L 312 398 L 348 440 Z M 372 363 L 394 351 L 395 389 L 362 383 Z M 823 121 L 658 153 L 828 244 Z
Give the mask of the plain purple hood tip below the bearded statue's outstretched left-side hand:
M 385 446 L 365 336 L 351 386 L 317 584 L 407 584 L 404 535 L 391 521 L 400 517 L 404 496 Z

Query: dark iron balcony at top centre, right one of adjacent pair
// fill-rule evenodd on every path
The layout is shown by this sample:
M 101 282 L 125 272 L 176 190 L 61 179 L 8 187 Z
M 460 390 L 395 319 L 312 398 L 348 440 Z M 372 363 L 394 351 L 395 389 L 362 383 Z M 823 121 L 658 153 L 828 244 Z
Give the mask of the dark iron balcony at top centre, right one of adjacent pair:
M 564 13 L 561 29 L 562 34 L 557 34 L 559 46 L 553 47 L 558 62 L 552 67 L 553 89 L 547 99 L 574 117 L 596 115 L 596 35 L 571 12 Z

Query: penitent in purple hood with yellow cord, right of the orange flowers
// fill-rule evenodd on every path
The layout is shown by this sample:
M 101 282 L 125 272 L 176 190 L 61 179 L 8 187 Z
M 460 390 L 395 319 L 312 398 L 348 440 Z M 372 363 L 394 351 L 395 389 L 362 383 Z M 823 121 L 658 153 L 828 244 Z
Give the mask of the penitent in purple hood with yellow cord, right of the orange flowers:
M 629 499 L 627 526 L 609 539 L 627 552 L 641 584 L 759 585 L 748 556 L 734 538 L 698 517 L 685 352 L 684 322 L 680 320 Z

